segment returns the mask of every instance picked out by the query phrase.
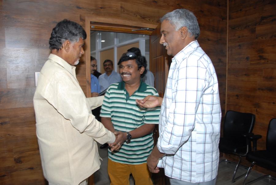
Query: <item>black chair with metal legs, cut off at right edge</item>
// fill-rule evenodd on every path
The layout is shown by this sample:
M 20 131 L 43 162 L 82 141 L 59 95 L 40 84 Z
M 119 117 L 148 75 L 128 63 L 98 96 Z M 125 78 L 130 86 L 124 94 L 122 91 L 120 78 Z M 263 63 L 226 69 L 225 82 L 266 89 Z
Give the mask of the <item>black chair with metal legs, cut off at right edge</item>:
M 251 139 L 251 138 L 250 138 Z M 243 181 L 243 184 L 252 184 L 263 178 L 270 178 L 276 180 L 275 177 L 270 175 L 261 176 L 255 180 L 252 180 L 248 183 L 246 179 L 251 172 L 254 164 L 266 168 L 270 171 L 276 172 L 276 118 L 271 119 L 268 125 L 267 134 L 266 134 L 266 150 L 256 150 L 251 151 L 247 154 L 246 159 L 252 162 L 251 166 L 248 168 L 247 174 Z

